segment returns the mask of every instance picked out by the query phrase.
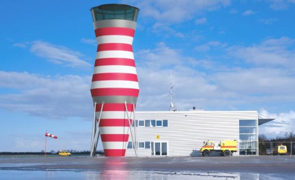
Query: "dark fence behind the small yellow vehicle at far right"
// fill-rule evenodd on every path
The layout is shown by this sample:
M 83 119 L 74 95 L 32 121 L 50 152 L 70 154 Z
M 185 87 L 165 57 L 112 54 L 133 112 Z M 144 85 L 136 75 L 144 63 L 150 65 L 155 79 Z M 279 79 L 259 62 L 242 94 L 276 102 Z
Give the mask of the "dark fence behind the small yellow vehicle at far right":
M 295 142 L 271 142 L 264 141 L 259 142 L 259 155 L 272 155 L 275 146 L 279 145 L 287 146 L 287 155 L 295 155 Z

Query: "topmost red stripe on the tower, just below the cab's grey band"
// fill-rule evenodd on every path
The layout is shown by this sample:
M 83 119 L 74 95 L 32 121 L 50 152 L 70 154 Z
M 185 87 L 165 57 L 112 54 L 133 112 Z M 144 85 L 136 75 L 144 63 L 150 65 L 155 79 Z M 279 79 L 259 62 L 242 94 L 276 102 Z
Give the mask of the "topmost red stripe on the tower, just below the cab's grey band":
M 108 35 L 122 35 L 134 37 L 135 29 L 126 27 L 102 27 L 95 29 L 96 37 Z

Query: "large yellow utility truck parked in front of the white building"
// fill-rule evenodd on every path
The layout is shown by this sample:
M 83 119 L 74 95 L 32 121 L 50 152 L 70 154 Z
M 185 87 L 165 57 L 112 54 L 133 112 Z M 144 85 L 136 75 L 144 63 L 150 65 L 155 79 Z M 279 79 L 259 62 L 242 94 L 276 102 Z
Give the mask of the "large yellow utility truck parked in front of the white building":
M 222 156 L 229 157 L 231 153 L 237 151 L 236 140 L 221 140 L 219 143 L 214 143 L 210 140 L 204 141 L 200 152 L 203 156 L 210 156 L 210 153 L 221 153 Z

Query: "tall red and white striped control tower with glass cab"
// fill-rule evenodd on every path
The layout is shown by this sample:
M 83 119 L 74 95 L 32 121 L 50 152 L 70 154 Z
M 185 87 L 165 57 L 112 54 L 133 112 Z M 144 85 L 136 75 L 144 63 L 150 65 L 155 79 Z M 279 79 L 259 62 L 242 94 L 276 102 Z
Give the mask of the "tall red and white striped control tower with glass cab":
M 105 156 L 124 156 L 139 94 L 132 52 L 139 9 L 106 4 L 91 12 L 98 42 L 91 86 L 95 107 L 91 155 L 100 136 Z

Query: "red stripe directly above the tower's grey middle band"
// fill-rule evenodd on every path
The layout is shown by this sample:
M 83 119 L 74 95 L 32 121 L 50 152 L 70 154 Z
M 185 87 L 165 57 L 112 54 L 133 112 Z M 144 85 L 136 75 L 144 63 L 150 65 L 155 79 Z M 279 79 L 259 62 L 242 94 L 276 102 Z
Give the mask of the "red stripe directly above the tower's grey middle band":
M 128 96 L 138 97 L 139 90 L 131 88 L 97 88 L 90 90 L 92 97 L 100 96 Z

